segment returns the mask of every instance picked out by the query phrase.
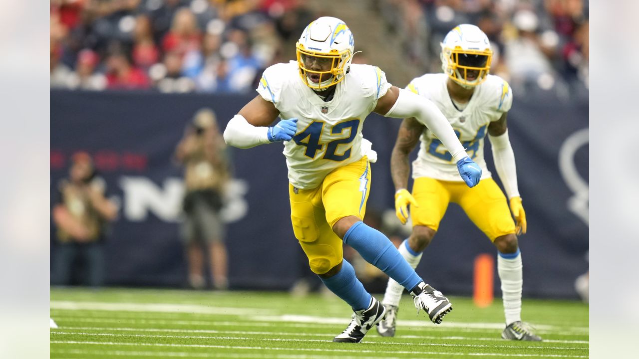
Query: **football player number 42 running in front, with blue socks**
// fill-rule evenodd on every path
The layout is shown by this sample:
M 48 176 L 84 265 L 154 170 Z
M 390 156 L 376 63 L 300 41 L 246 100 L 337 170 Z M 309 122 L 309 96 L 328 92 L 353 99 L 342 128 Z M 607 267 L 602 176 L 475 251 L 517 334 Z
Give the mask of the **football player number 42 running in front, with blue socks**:
M 376 153 L 363 139 L 371 112 L 412 117 L 433 131 L 452 153 L 459 174 L 473 187 L 481 169 L 461 146 L 448 120 L 430 101 L 392 86 L 380 68 L 351 64 L 353 34 L 342 20 L 320 17 L 296 44 L 297 61 L 265 70 L 258 96 L 233 117 L 227 144 L 250 148 L 284 141 L 293 233 L 311 270 L 353 311 L 335 342 L 360 342 L 385 316 L 378 300 L 343 259 L 343 243 L 394 278 L 412 294 L 418 310 L 440 323 L 452 305 L 404 261 L 390 240 L 362 222 Z M 279 116 L 281 121 L 268 127 Z M 459 176 L 459 175 L 458 175 Z

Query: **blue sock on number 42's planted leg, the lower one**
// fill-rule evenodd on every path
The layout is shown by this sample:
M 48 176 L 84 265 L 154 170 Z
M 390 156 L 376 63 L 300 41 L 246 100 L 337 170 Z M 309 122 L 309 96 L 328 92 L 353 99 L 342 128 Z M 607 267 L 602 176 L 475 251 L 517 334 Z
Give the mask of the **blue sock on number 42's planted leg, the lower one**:
M 353 308 L 353 311 L 366 309 L 371 304 L 371 294 L 364 289 L 362 282 L 355 277 L 355 269 L 346 259 L 343 259 L 342 269 L 339 273 L 330 278 L 319 276 L 319 279 L 324 282 L 330 291 L 348 303 Z

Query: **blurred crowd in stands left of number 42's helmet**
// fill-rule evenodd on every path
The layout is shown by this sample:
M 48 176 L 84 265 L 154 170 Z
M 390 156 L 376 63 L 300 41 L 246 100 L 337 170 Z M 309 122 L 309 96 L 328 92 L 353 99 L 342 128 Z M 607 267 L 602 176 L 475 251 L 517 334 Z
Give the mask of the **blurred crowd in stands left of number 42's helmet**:
M 249 91 L 312 17 L 299 0 L 51 0 L 50 86 Z

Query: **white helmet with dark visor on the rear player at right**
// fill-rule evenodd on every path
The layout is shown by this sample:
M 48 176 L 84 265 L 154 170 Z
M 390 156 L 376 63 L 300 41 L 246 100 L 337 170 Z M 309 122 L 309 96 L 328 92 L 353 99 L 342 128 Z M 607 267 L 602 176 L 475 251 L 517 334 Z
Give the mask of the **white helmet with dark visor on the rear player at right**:
M 472 88 L 486 80 L 493 50 L 488 36 L 479 27 L 461 24 L 443 39 L 442 69 L 463 88 Z

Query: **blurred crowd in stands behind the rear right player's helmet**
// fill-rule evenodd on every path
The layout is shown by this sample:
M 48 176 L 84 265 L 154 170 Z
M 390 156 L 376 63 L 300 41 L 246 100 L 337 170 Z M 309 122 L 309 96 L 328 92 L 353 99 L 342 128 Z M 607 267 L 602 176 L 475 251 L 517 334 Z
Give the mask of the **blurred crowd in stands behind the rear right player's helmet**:
M 456 24 L 488 35 L 491 73 L 516 87 L 588 88 L 587 0 L 381 0 L 380 14 L 402 39 L 408 61 L 440 72 L 440 42 Z

